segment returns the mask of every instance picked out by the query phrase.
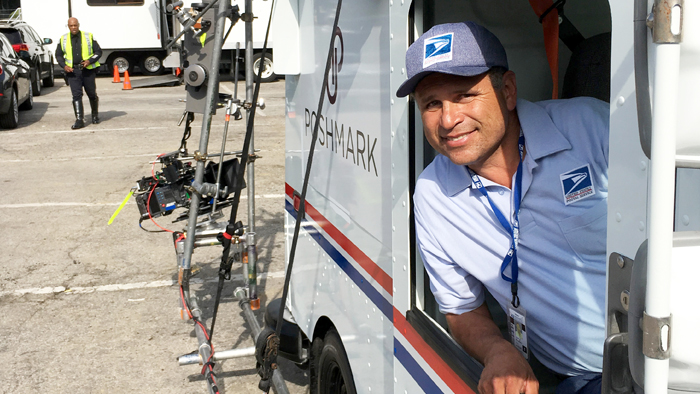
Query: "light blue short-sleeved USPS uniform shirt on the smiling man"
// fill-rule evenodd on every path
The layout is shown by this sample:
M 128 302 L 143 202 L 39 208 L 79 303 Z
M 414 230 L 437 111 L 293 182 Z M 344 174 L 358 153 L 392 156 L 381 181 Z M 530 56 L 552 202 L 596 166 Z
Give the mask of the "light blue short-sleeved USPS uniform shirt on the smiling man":
M 529 346 L 560 374 L 600 372 L 609 106 L 576 98 L 518 100 L 516 109 L 526 148 L 518 295 L 527 311 Z M 512 218 L 511 189 L 481 179 L 496 206 Z M 499 267 L 511 237 L 466 168 L 439 155 L 421 174 L 414 202 L 418 245 L 440 310 L 476 309 L 484 302 L 484 286 L 507 310 L 510 283 Z

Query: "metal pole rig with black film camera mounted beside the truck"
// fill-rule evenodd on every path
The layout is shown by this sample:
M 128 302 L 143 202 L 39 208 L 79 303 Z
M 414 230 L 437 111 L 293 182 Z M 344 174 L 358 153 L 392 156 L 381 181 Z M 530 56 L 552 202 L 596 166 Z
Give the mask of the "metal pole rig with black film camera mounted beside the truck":
M 179 50 L 186 84 L 186 109 L 178 123 L 180 126 L 186 120 L 180 148 L 158 156 L 152 163 L 151 176 L 144 176 L 138 180 L 130 195 L 135 196 L 140 222 L 150 219 L 158 225 L 153 218 L 171 215 L 178 208 L 186 209 L 185 213 L 174 220 L 187 221 L 182 231 L 161 228 L 171 232 L 173 236 L 178 265 L 180 317 L 194 323 L 198 342 L 196 351 L 178 358 L 180 365 L 202 365 L 201 373 L 205 377 L 209 392 L 216 394 L 219 389 L 214 373 L 215 362 L 240 357 L 250 351 L 242 349 L 242 352 L 215 353 L 212 345 L 224 281 L 231 279 L 232 266 L 239 263 L 246 280 L 244 286 L 234 291 L 234 295 L 238 298 L 245 320 L 250 325 L 253 340 L 259 345 L 257 349 L 252 349 L 252 353 L 257 355 L 258 374 L 261 377 L 259 388 L 269 392 L 270 387 L 274 386 L 277 393 L 285 394 L 288 390 L 276 364 L 278 336 L 274 331 L 270 333 L 269 328 L 262 330 L 253 315 L 253 311 L 260 308 L 260 299 L 257 293 L 254 188 L 254 164 L 259 156 L 255 153 L 252 137 L 256 109 L 264 109 L 265 104 L 262 100 L 258 101 L 260 79 L 253 88 L 252 0 L 245 0 L 245 13 L 242 15 L 238 6 L 231 5 L 231 0 L 209 0 L 194 3 L 191 7 L 183 8 L 182 1 L 174 1 L 166 7 L 169 15 L 177 18 L 182 25 L 182 31 L 166 46 L 166 49 L 172 47 Z M 237 98 L 238 61 L 235 63 L 234 94 L 219 93 L 219 64 L 222 46 L 228 37 L 228 32 L 224 34 L 227 19 L 231 21 L 229 32 L 239 20 L 246 23 L 245 101 Z M 270 22 L 271 20 L 268 21 L 268 32 L 262 50 L 263 60 L 259 63 L 258 73 L 262 73 L 265 63 Z M 180 37 L 184 37 L 182 42 L 178 41 Z M 237 44 L 236 59 L 239 59 L 239 49 Z M 221 151 L 218 154 L 208 154 L 212 116 L 222 107 L 226 108 L 226 116 Z M 226 141 L 231 115 L 234 120 L 242 119 L 241 109 L 246 111 L 243 148 L 239 152 L 227 152 Z M 198 150 L 190 155 L 187 151 L 187 140 L 191 135 L 191 123 L 196 113 L 202 114 L 202 129 Z M 157 164 L 160 164 L 159 171 L 155 169 Z M 245 173 L 248 175 L 247 184 L 243 180 Z M 236 220 L 244 188 L 248 192 L 247 226 Z M 228 206 L 230 218 L 227 222 L 219 222 L 218 219 L 224 216 L 222 209 Z M 223 252 L 218 270 L 219 280 L 211 326 L 207 328 L 202 309 L 198 306 L 199 300 L 191 293 L 189 285 L 191 277 L 195 274 L 192 264 L 194 249 L 214 245 L 223 246 Z

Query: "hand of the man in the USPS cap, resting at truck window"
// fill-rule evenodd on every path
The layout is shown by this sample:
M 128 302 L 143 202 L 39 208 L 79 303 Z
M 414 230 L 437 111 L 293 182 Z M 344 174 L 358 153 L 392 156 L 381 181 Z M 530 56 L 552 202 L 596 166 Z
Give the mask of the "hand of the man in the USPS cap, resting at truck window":
M 540 384 L 523 356 L 506 341 L 497 347 L 484 360 L 479 393 L 537 394 Z

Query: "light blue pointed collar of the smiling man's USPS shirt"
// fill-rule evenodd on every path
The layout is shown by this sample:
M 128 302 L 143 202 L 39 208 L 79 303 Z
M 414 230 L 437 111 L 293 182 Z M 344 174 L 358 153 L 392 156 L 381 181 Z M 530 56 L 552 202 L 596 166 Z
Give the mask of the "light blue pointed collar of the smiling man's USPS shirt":
M 545 156 L 571 149 L 571 143 L 557 129 L 544 108 L 522 99 L 518 99 L 516 108 L 525 136 L 526 158 L 539 160 Z M 455 165 L 447 157 L 442 159 L 446 164 L 442 184 L 449 196 L 454 196 L 472 187 L 472 180 L 465 166 Z M 485 178 L 482 178 L 481 181 L 485 187 L 495 185 L 494 182 Z

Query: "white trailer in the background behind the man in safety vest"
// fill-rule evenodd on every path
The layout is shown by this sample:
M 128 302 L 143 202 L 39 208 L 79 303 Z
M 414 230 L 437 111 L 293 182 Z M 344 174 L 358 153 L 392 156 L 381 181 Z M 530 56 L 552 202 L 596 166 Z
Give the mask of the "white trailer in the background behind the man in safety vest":
M 32 26 L 41 29 L 42 34 L 54 42 L 68 32 L 66 22 L 69 17 L 78 18 L 81 30 L 92 33 L 102 48 L 102 63 L 108 72 L 114 65 L 120 72 L 133 73 L 136 66 L 147 75 L 163 72 L 163 60 L 168 55 L 164 49 L 168 39 L 179 29 L 177 21 L 167 14 L 166 6 L 172 0 L 24 0 L 22 18 Z M 186 1 L 185 7 L 206 1 Z M 241 13 L 244 1 L 239 4 Z M 256 22 L 253 28 L 253 46 L 261 49 L 271 10 L 271 1 L 254 0 L 253 12 Z M 233 61 L 236 42 L 245 47 L 244 23 L 238 23 L 231 30 L 224 49 L 229 50 L 222 60 Z M 228 28 L 228 26 L 227 26 Z M 230 56 L 229 56 L 230 53 Z M 179 59 L 178 59 L 179 60 Z M 257 58 L 256 58 L 257 60 Z M 271 60 L 268 79 L 274 79 Z

